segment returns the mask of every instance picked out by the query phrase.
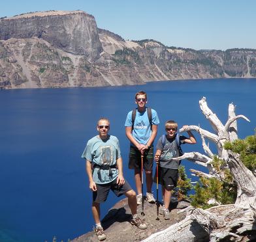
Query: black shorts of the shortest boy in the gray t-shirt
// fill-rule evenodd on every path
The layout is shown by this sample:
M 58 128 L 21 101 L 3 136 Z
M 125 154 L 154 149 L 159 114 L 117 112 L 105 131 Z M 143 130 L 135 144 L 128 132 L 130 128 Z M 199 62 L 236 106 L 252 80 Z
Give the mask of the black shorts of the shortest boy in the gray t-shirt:
M 177 186 L 178 181 L 178 170 L 158 167 L 158 182 L 161 184 L 167 191 L 172 191 L 174 187 Z M 157 182 L 157 170 L 155 168 L 155 176 L 153 182 Z

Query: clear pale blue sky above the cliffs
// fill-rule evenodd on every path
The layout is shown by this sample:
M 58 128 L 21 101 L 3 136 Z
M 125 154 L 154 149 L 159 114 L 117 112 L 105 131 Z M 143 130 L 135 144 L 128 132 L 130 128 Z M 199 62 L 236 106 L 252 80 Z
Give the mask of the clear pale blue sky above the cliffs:
M 84 10 L 125 40 L 153 38 L 193 49 L 256 49 L 254 0 L 3 0 L 0 16 Z

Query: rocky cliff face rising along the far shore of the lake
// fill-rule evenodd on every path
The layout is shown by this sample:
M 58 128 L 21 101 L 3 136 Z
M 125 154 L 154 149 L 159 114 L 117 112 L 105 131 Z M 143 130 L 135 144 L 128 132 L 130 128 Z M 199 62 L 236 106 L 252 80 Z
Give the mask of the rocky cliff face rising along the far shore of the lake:
M 256 77 L 255 49 L 195 51 L 125 41 L 82 11 L 0 20 L 0 88 L 136 85 L 147 81 Z

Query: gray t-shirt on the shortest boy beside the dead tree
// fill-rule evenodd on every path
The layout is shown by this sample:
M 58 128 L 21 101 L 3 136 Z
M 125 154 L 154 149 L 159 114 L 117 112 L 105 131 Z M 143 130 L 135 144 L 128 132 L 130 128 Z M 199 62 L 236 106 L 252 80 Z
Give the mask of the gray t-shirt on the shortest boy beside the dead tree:
M 179 167 L 180 161 L 172 160 L 174 157 L 179 157 L 180 152 L 178 150 L 178 146 L 175 141 L 175 137 L 172 139 L 167 138 L 167 135 L 165 135 L 165 146 L 163 147 L 163 138 L 162 136 L 157 141 L 157 150 L 161 150 L 162 154 L 160 156 L 160 166 L 170 169 L 177 170 Z M 180 136 L 180 142 L 184 144 L 184 139 L 187 139 L 187 137 L 181 135 Z

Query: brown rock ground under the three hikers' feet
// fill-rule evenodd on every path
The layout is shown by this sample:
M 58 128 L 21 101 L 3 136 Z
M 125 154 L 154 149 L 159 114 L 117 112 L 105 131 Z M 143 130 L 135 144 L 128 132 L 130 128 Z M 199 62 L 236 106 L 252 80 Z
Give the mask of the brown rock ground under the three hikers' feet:
M 144 213 L 142 216 L 140 213 L 142 211 L 142 206 L 138 206 L 138 215 L 141 219 L 148 224 L 146 230 L 140 230 L 135 226 L 132 226 L 129 222 L 131 218 L 131 210 L 127 204 L 127 198 L 120 200 L 113 208 L 111 208 L 104 219 L 101 221 L 103 225 L 104 232 L 106 233 L 105 241 L 120 242 L 120 241 L 140 241 L 146 239 L 151 234 L 164 230 L 168 226 L 181 221 L 184 219 L 183 213 L 177 213 L 180 211 L 178 209 L 179 205 L 184 208 L 185 204 L 189 205 L 187 202 L 176 202 L 170 204 L 170 220 L 165 220 L 163 215 L 159 215 L 159 221 L 157 218 L 157 206 L 156 204 L 144 203 Z M 72 240 L 73 242 L 84 242 L 84 241 L 97 241 L 94 232 L 88 232 L 87 234 L 81 235 Z

